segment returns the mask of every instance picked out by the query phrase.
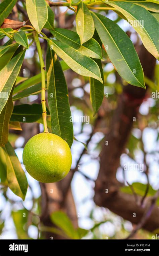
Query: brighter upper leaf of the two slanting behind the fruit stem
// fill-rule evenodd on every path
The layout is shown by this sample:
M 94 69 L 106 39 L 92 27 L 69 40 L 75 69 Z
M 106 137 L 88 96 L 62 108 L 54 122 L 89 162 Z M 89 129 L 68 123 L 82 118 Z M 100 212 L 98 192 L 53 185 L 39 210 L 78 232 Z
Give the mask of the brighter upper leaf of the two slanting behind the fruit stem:
M 60 61 L 60 64 L 61 64 L 63 71 L 70 68 L 63 60 Z M 46 77 L 46 72 L 45 72 L 45 77 Z M 41 82 L 41 73 L 39 73 L 38 75 L 32 76 L 30 78 L 24 78 L 24 80 L 26 80 L 26 81 L 24 81 L 22 84 L 15 87 L 13 94 L 16 94 L 28 87 L 31 87 L 32 85 L 36 85 L 36 84 L 40 83 Z

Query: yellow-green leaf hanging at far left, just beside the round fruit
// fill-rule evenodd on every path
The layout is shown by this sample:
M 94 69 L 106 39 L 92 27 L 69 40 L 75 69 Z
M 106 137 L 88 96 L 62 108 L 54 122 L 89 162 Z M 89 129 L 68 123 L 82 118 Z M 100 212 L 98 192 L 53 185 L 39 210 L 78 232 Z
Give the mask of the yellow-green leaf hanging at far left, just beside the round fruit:
M 8 187 L 15 195 L 20 196 L 24 200 L 28 188 L 25 173 L 9 141 L 6 143 L 5 148 L 3 149 L 7 163 Z

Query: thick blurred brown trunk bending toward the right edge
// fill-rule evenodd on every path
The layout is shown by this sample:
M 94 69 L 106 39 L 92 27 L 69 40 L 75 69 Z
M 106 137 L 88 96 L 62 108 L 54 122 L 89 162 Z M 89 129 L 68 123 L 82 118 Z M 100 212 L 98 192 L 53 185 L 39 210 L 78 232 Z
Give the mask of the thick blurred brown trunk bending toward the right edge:
M 155 58 L 147 52 L 143 45 L 140 47 L 139 58 L 144 74 L 152 79 Z M 100 170 L 94 196 L 97 205 L 107 207 L 112 212 L 135 224 L 139 223 L 145 209 L 137 205 L 133 195 L 119 191 L 121 184 L 116 180 L 116 171 L 119 167 L 120 156 L 125 150 L 133 127 L 133 118 L 137 118 L 139 106 L 146 97 L 146 93 L 147 91 L 142 88 L 127 85 L 119 96 L 117 108 L 114 111 L 110 125 L 110 132 L 104 139 L 104 141 L 108 141 L 108 146 L 105 146 L 104 143 L 102 147 Z M 108 193 L 105 193 L 105 189 L 108 189 Z M 136 218 L 133 217 L 133 213 L 136 213 Z M 159 228 L 159 209 L 157 206 L 154 207 L 144 228 L 149 231 Z

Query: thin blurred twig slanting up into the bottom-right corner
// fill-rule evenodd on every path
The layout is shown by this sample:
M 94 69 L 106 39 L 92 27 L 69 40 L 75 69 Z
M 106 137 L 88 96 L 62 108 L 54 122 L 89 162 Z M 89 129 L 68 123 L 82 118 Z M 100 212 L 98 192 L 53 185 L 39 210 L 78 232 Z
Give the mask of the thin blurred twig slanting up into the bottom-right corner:
M 139 229 L 141 229 L 144 224 L 146 223 L 146 221 L 148 220 L 148 218 L 150 217 L 153 208 L 155 206 L 156 200 L 159 197 L 159 190 L 156 192 L 156 194 L 151 198 L 151 203 L 150 206 L 148 207 L 147 211 L 145 211 L 143 217 L 141 218 L 140 222 L 138 223 L 138 225 L 134 228 L 134 230 L 125 238 L 130 239 L 131 237 L 133 237 Z

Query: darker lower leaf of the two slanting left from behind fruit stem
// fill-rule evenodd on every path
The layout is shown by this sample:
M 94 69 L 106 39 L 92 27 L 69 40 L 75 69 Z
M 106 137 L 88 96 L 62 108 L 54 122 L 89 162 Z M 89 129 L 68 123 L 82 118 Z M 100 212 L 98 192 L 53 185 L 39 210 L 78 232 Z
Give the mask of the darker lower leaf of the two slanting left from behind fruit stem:
M 37 85 L 33 85 L 25 90 L 23 90 L 22 92 L 17 93 L 12 100 L 18 100 L 24 97 L 27 97 L 29 95 L 36 95 L 39 94 L 41 92 L 41 83 L 37 84 Z

